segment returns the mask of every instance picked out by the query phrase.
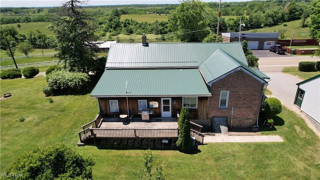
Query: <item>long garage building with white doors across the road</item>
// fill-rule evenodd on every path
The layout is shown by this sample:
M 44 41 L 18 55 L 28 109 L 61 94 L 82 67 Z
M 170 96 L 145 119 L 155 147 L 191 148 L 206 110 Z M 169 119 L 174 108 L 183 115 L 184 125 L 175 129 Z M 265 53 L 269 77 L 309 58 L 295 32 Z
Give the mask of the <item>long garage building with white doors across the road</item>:
M 269 49 L 269 46 L 274 45 L 278 41 L 279 32 L 222 32 L 221 37 L 223 42 L 238 42 L 248 41 L 248 48 L 255 49 Z

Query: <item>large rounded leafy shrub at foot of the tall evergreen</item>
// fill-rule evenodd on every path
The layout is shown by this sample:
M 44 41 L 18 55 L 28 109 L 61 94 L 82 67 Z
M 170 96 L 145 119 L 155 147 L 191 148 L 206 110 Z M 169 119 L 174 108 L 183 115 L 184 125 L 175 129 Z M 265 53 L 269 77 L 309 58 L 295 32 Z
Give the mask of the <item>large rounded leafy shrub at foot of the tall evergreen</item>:
M 66 70 L 52 71 L 45 78 L 52 92 L 79 91 L 87 87 L 89 81 L 89 76 L 86 73 Z

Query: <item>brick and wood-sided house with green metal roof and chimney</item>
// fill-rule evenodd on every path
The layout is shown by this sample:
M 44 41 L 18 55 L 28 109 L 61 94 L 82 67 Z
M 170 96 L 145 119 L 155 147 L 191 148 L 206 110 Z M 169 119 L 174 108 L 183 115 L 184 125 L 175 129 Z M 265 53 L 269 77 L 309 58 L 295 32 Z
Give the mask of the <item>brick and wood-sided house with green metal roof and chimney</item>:
M 110 45 L 90 96 L 105 117 L 177 117 L 187 106 L 190 119 L 201 125 L 223 117 L 228 126 L 251 127 L 257 124 L 266 78 L 247 66 L 239 42 L 147 43 L 144 36 L 142 44 Z

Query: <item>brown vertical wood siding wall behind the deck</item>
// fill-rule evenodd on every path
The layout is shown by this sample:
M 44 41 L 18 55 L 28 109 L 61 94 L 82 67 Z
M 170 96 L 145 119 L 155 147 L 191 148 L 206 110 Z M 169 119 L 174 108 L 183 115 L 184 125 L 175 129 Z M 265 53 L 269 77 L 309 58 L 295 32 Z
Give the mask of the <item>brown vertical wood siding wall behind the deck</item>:
M 147 100 L 149 105 L 150 101 L 159 102 L 159 107 L 150 108 L 153 111 L 149 114 L 150 117 L 161 117 L 161 97 L 128 97 L 129 114 L 134 116 L 140 116 L 138 114 L 138 100 Z M 108 98 L 98 98 L 100 111 L 103 116 L 113 116 L 114 112 L 110 112 L 109 100 L 118 100 L 119 113 L 126 114 L 126 98 L 125 97 L 108 97 Z M 175 103 L 173 103 L 175 102 Z M 176 117 L 176 112 L 180 112 L 182 107 L 182 97 L 171 97 L 171 117 Z M 206 119 L 208 109 L 208 97 L 198 97 L 198 107 L 196 109 L 189 109 L 190 119 Z

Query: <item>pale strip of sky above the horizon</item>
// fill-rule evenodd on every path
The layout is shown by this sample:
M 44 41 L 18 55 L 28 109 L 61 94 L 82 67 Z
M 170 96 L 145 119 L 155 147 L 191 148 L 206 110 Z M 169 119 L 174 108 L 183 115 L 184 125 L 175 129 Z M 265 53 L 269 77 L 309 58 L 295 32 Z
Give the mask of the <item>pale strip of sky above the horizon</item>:
M 0 0 L 0 7 L 56 7 L 66 0 Z M 120 5 L 120 4 L 177 4 L 181 0 L 88 0 L 87 5 Z M 218 0 L 202 0 L 218 2 Z M 221 0 L 236 2 L 248 0 Z

